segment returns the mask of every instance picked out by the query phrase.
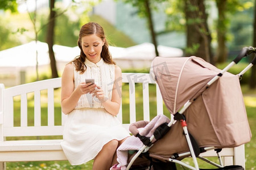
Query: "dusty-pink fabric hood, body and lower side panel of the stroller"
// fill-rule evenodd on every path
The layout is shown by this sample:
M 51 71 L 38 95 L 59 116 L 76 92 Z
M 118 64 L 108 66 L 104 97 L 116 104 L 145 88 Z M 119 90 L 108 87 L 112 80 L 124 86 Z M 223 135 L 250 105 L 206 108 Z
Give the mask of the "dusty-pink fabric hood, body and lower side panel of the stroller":
M 188 131 L 200 147 L 234 147 L 250 141 L 238 75 L 225 73 L 206 89 L 209 80 L 221 70 L 201 58 L 156 57 L 152 69 L 170 113 L 175 114 L 188 100 L 196 99 L 184 115 Z M 189 150 L 180 124 L 172 126 L 157 143 L 150 148 L 156 155 Z

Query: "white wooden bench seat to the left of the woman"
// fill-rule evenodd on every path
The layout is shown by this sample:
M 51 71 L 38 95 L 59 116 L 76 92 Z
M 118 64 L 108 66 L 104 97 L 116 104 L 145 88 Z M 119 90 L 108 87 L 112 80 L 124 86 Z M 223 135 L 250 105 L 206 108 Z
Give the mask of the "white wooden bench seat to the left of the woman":
M 0 144 L 1 162 L 67 160 L 62 139 L 5 141 Z

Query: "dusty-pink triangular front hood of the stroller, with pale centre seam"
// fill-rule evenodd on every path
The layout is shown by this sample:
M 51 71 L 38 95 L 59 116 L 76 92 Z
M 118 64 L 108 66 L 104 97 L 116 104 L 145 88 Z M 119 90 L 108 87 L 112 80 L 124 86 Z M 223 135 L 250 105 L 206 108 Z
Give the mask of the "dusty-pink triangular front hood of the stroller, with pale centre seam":
M 198 57 L 156 57 L 152 67 L 163 100 L 172 114 L 220 72 Z

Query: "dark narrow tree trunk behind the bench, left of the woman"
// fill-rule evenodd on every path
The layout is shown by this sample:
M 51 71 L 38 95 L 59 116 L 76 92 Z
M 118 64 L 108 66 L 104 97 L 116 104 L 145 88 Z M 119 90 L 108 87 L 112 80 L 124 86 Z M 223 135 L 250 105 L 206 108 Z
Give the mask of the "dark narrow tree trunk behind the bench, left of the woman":
M 57 73 L 56 60 L 53 52 L 53 43 L 54 43 L 54 27 L 55 27 L 55 11 L 54 8 L 55 0 L 50 0 L 50 14 L 49 14 L 49 24 L 46 36 L 46 42 L 49 48 L 49 58 L 51 61 L 51 70 L 52 70 L 52 78 L 59 77 Z

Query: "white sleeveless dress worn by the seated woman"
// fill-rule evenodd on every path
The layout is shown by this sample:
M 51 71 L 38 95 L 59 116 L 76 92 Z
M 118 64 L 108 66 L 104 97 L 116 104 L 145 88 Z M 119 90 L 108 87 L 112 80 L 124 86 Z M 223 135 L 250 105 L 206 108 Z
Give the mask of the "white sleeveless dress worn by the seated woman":
M 102 58 L 98 63 L 86 59 L 85 65 L 87 69 L 83 74 L 74 68 L 75 88 L 79 83 L 85 82 L 86 78 L 94 78 L 105 97 L 111 100 L 115 66 L 105 63 Z M 85 94 L 68 114 L 61 147 L 71 165 L 80 165 L 94 159 L 109 141 L 120 141 L 128 136 L 129 132 L 122 127 L 117 117 L 108 113 L 96 97 Z

